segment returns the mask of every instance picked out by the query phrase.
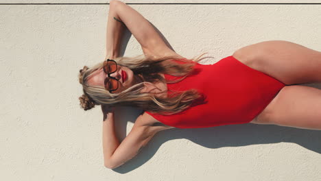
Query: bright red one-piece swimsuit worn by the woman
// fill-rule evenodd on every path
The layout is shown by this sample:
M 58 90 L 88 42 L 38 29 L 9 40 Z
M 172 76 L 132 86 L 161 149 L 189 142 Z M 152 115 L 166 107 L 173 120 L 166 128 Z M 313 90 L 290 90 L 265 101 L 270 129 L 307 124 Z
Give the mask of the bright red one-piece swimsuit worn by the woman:
M 167 83 L 167 89 L 195 88 L 205 96 L 201 104 L 168 116 L 147 111 L 146 113 L 165 125 L 176 128 L 249 123 L 285 86 L 283 82 L 246 66 L 233 56 L 223 58 L 215 64 L 196 63 L 194 69 L 197 73 L 180 82 Z M 180 77 L 165 74 L 167 80 L 177 78 Z

